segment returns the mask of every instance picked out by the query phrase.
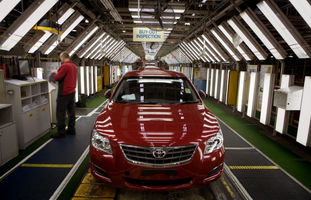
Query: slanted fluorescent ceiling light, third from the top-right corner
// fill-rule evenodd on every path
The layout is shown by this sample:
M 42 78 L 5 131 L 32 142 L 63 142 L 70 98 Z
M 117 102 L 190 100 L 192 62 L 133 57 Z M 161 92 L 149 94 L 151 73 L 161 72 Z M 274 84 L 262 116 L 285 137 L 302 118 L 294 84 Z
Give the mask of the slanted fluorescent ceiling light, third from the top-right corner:
M 287 53 L 250 8 L 247 8 L 240 16 L 277 60 L 285 59 Z

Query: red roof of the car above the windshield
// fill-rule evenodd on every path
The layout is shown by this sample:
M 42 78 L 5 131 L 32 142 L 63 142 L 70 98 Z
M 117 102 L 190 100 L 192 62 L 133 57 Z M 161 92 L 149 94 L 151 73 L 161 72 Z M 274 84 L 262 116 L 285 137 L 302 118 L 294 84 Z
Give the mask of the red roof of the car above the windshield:
M 137 77 L 137 76 L 167 76 L 167 77 L 186 77 L 185 74 L 176 71 L 159 69 L 142 69 L 139 68 L 135 71 L 127 72 L 125 77 Z

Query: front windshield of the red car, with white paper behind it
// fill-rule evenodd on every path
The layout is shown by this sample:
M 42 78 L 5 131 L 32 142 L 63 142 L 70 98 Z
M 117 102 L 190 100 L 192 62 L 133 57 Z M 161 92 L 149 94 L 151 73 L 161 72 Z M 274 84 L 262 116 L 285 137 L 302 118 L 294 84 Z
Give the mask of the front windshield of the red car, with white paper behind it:
M 128 104 L 200 103 L 185 77 L 124 77 L 112 101 Z

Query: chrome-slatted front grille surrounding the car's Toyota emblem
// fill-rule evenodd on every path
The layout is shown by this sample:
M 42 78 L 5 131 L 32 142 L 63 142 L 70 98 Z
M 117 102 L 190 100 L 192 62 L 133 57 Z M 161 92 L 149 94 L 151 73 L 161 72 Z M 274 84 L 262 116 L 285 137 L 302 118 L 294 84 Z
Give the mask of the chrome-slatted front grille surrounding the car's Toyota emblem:
M 190 162 L 198 145 L 179 147 L 139 147 L 120 145 L 125 158 L 135 164 L 150 166 L 170 166 Z M 164 157 L 153 156 L 157 150 L 165 151 Z

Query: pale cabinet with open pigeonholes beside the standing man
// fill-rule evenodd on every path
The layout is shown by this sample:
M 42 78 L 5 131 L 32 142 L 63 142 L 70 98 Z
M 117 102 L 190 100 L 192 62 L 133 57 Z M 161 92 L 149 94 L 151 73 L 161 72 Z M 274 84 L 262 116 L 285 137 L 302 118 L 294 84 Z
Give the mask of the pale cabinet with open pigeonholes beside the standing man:
M 5 81 L 7 102 L 13 104 L 17 121 L 20 149 L 25 149 L 51 130 L 49 83 L 36 77 L 34 80 L 28 78 L 27 81 Z M 9 90 L 14 93 L 8 94 Z

